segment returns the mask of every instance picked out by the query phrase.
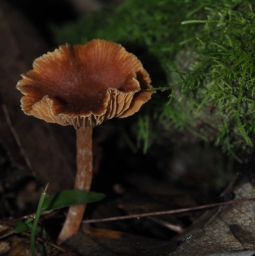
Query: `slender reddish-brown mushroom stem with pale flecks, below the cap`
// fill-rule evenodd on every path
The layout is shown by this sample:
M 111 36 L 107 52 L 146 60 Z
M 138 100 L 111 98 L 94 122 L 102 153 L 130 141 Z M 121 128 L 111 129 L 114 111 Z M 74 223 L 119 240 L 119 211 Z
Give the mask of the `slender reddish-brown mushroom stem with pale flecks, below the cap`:
M 92 125 L 77 130 L 77 176 L 75 189 L 90 190 L 92 180 Z M 77 233 L 86 205 L 69 207 L 68 216 L 57 239 L 57 243 Z

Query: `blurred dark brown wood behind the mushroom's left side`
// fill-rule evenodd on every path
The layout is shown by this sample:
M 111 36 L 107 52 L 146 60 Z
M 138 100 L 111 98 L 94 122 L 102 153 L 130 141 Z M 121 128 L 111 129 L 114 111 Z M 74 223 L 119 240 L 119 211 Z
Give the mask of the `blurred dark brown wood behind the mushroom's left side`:
M 29 21 L 3 0 L 0 34 L 0 140 L 13 167 L 36 174 L 43 185 L 50 183 L 49 193 L 71 188 L 75 152 L 66 141 L 73 138 L 75 144 L 75 131 L 56 130 L 54 125 L 25 116 L 20 109 L 22 94 L 15 89 L 20 74 L 32 68 L 33 60 L 47 52 L 47 46 Z

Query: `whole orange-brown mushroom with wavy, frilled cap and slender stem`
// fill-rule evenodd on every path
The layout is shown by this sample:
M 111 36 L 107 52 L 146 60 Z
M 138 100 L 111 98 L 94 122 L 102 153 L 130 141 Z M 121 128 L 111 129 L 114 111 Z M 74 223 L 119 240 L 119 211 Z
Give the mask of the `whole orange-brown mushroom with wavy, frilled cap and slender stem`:
M 89 190 L 92 179 L 92 126 L 113 117 L 128 117 L 154 91 L 137 57 L 121 45 L 92 40 L 85 45 L 60 46 L 34 60 L 17 89 L 22 110 L 48 123 L 71 124 L 77 130 L 75 188 Z M 75 234 L 85 205 L 69 207 L 59 234 L 61 243 Z

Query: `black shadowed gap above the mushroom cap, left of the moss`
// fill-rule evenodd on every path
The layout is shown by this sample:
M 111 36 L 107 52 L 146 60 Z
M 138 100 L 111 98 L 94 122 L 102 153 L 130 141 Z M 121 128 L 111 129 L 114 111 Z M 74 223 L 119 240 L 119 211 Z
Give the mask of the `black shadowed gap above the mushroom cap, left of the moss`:
M 62 25 L 75 22 L 79 17 L 91 11 L 102 10 L 124 0 L 10 0 L 8 3 L 22 11 L 40 31 L 43 38 L 54 46 L 50 24 Z

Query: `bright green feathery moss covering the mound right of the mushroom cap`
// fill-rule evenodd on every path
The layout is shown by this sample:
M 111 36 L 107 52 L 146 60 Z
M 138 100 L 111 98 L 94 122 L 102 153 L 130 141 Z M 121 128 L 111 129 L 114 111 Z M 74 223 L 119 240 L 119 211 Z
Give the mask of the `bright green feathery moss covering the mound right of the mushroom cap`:
M 251 153 L 255 143 L 254 6 L 243 0 L 129 0 L 54 31 L 59 43 L 122 43 L 142 61 L 153 86 L 164 91 L 133 119 L 144 150 L 178 130 L 237 157 Z

